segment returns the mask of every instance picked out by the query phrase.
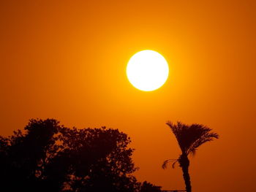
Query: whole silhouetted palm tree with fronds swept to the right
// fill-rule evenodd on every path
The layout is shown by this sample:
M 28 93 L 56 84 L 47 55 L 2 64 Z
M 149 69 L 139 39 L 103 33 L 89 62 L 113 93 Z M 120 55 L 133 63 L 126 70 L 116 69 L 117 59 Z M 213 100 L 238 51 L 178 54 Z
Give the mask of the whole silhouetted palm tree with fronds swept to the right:
M 166 124 L 170 126 L 171 131 L 173 131 L 173 134 L 178 141 L 178 145 L 181 148 L 181 155 L 178 159 L 168 159 L 164 161 L 162 168 L 165 169 L 170 162 L 173 162 L 174 168 L 176 162 L 178 162 L 183 172 L 186 191 L 191 192 L 188 155 L 195 155 L 195 152 L 200 145 L 203 145 L 205 142 L 211 142 L 214 138 L 218 139 L 219 135 L 211 132 L 211 128 L 200 124 L 187 125 L 181 122 L 178 122 L 177 124 L 167 122 Z

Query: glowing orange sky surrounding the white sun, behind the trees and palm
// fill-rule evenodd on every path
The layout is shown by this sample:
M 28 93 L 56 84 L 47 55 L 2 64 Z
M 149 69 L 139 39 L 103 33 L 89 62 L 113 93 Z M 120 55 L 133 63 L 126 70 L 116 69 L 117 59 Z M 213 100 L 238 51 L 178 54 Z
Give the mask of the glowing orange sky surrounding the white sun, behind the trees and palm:
M 167 120 L 203 123 L 220 139 L 191 160 L 197 192 L 256 191 L 255 1 L 1 1 L 0 134 L 29 118 L 119 128 L 139 180 L 183 189 Z M 170 76 L 134 88 L 129 58 L 157 50 Z

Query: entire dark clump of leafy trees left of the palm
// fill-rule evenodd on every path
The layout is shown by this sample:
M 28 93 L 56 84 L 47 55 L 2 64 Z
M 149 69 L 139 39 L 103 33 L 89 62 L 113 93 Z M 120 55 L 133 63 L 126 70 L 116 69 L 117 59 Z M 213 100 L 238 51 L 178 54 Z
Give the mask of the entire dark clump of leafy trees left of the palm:
M 67 128 L 58 120 L 31 119 L 24 131 L 0 137 L 1 189 L 140 192 L 130 142 L 118 129 Z M 148 192 L 155 189 L 148 185 Z

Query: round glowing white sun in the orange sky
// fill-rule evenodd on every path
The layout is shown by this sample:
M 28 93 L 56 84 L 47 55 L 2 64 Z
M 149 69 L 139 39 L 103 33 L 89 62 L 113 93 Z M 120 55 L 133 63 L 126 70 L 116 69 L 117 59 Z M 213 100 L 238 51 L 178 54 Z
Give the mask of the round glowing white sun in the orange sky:
M 135 88 L 154 91 L 167 80 L 169 66 L 165 58 L 154 50 L 142 50 L 127 64 L 127 77 Z

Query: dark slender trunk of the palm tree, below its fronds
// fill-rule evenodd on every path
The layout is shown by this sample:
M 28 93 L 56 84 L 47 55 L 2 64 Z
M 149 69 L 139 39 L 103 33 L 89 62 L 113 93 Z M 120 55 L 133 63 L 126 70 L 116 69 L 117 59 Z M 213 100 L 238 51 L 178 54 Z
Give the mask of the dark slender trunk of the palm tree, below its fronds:
M 189 158 L 187 155 L 182 154 L 179 158 L 179 163 L 183 172 L 183 178 L 186 185 L 186 191 L 191 192 L 191 183 L 190 183 L 190 176 L 189 176 Z

